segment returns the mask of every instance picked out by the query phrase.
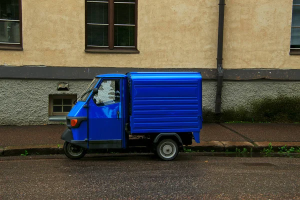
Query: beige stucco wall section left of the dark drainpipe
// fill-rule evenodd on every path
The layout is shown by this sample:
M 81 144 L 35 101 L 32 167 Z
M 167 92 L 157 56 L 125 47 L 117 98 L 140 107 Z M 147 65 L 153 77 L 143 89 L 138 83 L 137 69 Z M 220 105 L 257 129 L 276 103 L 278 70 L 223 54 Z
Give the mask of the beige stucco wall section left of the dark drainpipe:
M 218 0 L 139 0 L 138 54 L 84 52 L 84 0 L 22 0 L 23 50 L 0 65 L 215 67 Z

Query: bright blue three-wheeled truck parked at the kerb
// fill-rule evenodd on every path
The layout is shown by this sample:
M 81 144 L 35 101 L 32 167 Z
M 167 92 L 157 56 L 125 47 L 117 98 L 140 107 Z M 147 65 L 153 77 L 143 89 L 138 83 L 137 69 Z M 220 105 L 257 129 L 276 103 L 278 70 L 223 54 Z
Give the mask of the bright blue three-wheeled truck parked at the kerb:
M 147 146 L 161 159 L 172 160 L 192 139 L 200 142 L 201 75 L 97 75 L 68 113 L 66 124 L 61 139 L 71 159 L 83 157 L 87 149 Z

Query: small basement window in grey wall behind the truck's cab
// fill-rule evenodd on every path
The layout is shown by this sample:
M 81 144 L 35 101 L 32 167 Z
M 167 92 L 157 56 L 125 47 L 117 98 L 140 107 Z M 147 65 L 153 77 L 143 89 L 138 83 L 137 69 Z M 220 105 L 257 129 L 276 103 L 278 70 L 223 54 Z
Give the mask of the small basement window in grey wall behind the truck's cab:
M 49 120 L 62 121 L 73 107 L 77 95 L 49 95 Z

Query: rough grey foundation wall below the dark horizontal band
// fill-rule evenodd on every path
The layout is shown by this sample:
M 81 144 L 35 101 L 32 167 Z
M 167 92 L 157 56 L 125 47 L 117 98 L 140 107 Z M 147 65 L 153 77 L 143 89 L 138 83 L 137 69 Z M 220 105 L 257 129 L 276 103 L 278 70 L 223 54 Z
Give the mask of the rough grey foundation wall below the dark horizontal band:
M 69 82 L 69 91 L 57 91 L 57 82 Z M 48 120 L 49 94 L 80 95 L 90 80 L 0 79 L 0 125 L 57 123 Z M 203 80 L 203 110 L 214 110 L 215 80 Z M 224 81 L 222 110 L 247 107 L 263 97 L 299 96 L 300 81 Z

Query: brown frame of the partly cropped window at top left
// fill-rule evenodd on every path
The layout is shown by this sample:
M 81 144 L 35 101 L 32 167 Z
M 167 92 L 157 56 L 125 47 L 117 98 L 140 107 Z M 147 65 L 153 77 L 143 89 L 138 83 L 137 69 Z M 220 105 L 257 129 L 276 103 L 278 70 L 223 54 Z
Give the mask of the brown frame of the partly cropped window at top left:
M 22 0 L 18 0 L 19 7 L 19 32 L 20 32 L 20 43 L 0 43 L 0 50 L 23 50 L 23 35 L 22 35 Z M 1 20 L 1 19 L 0 19 Z M 2 19 L 6 21 L 15 21 L 10 19 Z

